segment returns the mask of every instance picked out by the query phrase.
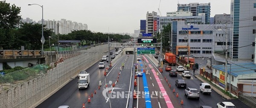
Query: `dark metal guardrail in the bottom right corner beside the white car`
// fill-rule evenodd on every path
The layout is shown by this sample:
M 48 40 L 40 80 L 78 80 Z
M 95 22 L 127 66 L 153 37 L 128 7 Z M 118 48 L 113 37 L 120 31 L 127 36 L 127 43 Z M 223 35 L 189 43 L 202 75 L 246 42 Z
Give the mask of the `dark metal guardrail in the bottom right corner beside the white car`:
M 244 94 L 242 91 L 238 92 L 238 97 L 247 101 L 253 108 L 256 108 L 256 98 L 249 96 L 248 94 Z

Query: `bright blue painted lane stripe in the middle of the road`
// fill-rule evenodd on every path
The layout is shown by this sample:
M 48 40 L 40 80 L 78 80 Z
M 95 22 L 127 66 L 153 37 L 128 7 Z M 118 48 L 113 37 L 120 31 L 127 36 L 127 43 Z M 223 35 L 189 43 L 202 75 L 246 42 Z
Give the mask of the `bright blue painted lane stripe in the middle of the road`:
M 152 108 L 149 90 L 148 90 L 148 82 L 145 73 L 143 73 L 143 86 L 144 86 L 144 95 L 145 95 L 145 102 L 146 102 L 146 108 Z

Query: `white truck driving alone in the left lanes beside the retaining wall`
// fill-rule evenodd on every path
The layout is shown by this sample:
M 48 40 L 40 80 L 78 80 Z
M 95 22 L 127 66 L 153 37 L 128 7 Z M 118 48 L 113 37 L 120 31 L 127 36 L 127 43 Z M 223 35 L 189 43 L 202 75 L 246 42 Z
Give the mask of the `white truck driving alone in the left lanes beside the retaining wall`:
M 79 77 L 78 88 L 87 88 L 90 85 L 90 74 L 84 74 Z

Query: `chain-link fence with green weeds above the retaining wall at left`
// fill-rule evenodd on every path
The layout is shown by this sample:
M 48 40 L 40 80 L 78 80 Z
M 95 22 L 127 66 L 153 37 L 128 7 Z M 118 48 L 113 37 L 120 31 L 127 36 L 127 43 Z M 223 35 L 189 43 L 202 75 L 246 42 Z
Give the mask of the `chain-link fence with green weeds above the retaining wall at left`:
M 1 90 L 6 90 L 8 88 L 15 87 L 23 82 L 31 80 L 42 74 L 47 73 L 48 66 L 44 64 L 36 65 L 31 68 L 25 68 L 20 71 L 15 71 L 9 74 L 4 74 L 0 76 Z

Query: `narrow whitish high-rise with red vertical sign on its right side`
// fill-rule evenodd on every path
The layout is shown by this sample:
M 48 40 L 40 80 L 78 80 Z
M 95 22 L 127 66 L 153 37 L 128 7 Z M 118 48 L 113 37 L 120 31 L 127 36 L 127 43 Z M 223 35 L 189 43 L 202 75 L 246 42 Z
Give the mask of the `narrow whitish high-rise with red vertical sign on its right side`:
M 146 33 L 156 34 L 157 33 L 157 19 L 154 19 L 154 16 L 157 16 L 157 12 L 152 11 L 146 15 Z M 154 28 L 154 29 L 153 29 Z

